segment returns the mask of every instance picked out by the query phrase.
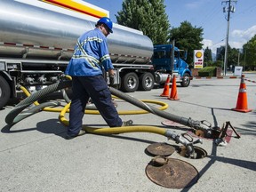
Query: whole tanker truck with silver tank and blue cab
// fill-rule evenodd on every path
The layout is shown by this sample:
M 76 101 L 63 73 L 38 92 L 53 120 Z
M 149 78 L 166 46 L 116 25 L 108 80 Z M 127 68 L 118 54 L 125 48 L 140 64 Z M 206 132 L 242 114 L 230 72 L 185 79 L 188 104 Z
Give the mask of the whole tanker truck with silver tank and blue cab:
M 17 97 L 19 84 L 34 92 L 59 81 L 76 39 L 95 28 L 99 20 L 49 2 L 0 1 L 0 108 Z M 139 30 L 114 23 L 113 31 L 108 36 L 108 50 L 117 88 L 124 92 L 150 91 L 154 84 L 164 84 L 170 73 L 176 73 L 177 82 L 188 86 L 191 72 L 180 59 L 178 48 L 172 49 L 171 44 L 155 46 L 155 52 L 162 55 L 159 58 L 158 53 L 153 54 L 152 41 Z M 171 49 L 176 53 L 171 54 Z

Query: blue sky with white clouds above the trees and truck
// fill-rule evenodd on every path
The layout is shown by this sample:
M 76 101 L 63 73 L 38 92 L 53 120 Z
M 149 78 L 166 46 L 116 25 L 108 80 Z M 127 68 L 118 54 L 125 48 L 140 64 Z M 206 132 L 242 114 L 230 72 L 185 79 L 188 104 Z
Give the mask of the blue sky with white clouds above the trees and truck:
M 123 0 L 84 0 L 108 10 L 111 20 L 116 22 L 116 14 L 122 10 Z M 187 20 L 193 27 L 203 28 L 203 49 L 216 53 L 217 47 L 225 46 L 228 31 L 228 44 L 241 49 L 252 36 L 256 35 L 256 1 L 233 0 L 235 12 L 230 12 L 229 30 L 227 12 L 223 12 L 226 1 L 221 0 L 164 0 L 165 12 L 171 28 L 179 28 Z

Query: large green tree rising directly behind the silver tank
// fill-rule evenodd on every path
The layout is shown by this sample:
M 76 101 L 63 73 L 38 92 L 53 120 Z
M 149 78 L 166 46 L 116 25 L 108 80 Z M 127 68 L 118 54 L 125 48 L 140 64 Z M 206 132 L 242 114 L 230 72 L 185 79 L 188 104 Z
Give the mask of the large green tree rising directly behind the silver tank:
M 124 0 L 122 5 L 116 15 L 118 24 L 142 31 L 153 44 L 167 43 L 170 24 L 164 0 Z

